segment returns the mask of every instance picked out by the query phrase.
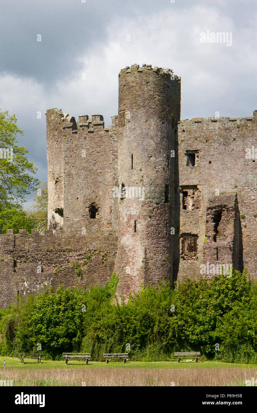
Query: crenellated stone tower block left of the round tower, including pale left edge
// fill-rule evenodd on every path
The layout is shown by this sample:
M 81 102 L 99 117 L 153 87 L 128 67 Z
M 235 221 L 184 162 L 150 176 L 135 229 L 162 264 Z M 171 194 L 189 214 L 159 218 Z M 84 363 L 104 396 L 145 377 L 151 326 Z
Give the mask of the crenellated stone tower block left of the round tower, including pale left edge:
M 113 169 L 117 153 L 112 127 L 105 128 L 103 116 L 98 114 L 92 119 L 81 115 L 77 123 L 59 109 L 50 109 L 47 131 L 51 142 L 47 146 L 50 228 L 63 228 L 69 234 L 79 234 L 85 228 L 88 237 L 115 232 L 118 199 L 113 199 L 112 188 L 117 185 L 117 169 Z M 62 151 L 58 152 L 55 142 Z M 57 162 L 52 157 L 53 148 Z M 57 168 L 56 163 L 61 162 L 62 169 Z

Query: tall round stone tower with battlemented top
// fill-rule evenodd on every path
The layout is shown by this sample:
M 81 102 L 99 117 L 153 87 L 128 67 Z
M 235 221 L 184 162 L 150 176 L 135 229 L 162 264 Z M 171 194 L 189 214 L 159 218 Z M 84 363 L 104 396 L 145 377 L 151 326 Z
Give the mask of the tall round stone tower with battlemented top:
M 180 78 L 170 69 L 134 64 L 120 71 L 118 295 L 172 282 L 180 96 Z

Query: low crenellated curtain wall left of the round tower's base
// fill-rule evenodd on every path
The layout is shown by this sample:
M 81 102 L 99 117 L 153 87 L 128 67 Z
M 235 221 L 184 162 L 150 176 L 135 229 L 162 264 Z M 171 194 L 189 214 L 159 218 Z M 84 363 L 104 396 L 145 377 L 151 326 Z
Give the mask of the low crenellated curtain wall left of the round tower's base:
M 117 237 L 95 236 L 91 239 L 74 238 L 64 231 L 45 235 L 36 231 L 26 234 L 20 230 L 14 235 L 7 230 L 0 235 L 0 308 L 5 308 L 19 296 L 42 291 L 59 285 L 78 287 L 84 285 L 105 285 L 114 269 L 117 252 Z M 81 267 L 73 268 L 75 262 Z

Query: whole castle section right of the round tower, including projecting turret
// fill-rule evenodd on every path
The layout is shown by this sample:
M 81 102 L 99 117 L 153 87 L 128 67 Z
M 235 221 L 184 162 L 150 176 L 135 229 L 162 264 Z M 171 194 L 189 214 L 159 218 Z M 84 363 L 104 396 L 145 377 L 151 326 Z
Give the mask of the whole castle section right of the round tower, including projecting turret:
M 207 261 L 233 263 L 239 270 L 247 267 L 256 278 L 257 111 L 246 118 L 184 119 L 178 123 L 178 137 L 174 220 L 178 278 L 197 274 Z M 247 149 L 253 153 L 251 159 Z M 192 260 L 181 259 L 183 233 L 197 236 Z

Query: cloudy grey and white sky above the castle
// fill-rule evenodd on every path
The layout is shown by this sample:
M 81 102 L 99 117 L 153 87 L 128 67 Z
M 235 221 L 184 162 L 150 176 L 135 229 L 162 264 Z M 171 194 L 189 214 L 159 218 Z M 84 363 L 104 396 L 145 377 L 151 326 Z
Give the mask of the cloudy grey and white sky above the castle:
M 207 31 L 232 33 L 232 45 L 201 43 Z M 182 119 L 257 109 L 256 0 L 2 0 L 0 39 L 0 108 L 17 116 L 41 181 L 46 110 L 99 113 L 110 125 L 127 65 L 181 76 Z

